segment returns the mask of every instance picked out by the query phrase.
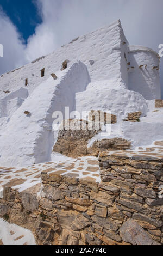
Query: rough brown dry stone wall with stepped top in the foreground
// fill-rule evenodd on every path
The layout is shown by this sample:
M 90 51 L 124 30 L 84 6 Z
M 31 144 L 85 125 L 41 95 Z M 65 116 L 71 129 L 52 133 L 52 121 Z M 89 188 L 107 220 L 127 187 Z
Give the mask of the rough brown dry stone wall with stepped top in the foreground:
M 33 231 L 39 245 L 162 245 L 162 159 L 99 156 L 101 183 L 42 172 L 40 184 L 4 188 L 0 216 Z

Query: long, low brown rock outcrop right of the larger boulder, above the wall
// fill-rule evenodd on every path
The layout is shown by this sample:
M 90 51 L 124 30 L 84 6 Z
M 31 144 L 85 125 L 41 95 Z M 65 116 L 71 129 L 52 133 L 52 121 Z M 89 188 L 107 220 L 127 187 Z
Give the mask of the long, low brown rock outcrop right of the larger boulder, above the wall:
M 90 155 L 98 155 L 105 150 L 126 150 L 130 149 L 131 142 L 122 138 L 102 139 L 96 141 L 92 147 L 88 149 Z

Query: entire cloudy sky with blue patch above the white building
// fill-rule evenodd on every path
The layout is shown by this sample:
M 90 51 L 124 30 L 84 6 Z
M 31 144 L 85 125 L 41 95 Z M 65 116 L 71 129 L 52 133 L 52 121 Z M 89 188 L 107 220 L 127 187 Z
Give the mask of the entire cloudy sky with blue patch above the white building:
M 162 10 L 162 0 L 0 0 L 0 74 L 118 19 L 130 44 L 158 52 L 163 44 Z

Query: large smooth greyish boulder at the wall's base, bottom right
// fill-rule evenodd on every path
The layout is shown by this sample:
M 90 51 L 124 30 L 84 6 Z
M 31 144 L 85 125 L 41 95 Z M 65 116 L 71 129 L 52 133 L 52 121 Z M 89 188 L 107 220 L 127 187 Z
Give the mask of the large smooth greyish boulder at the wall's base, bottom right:
M 120 228 L 120 235 L 125 242 L 131 245 L 152 245 L 153 240 L 134 220 L 126 221 Z

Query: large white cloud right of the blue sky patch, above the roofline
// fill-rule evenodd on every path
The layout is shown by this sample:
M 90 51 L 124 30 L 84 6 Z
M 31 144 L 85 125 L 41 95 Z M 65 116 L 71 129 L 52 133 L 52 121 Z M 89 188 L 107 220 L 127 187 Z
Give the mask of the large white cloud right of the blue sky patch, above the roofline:
M 28 40 L 29 60 L 52 52 L 76 36 L 121 19 L 131 44 L 158 51 L 162 38 L 163 1 L 157 0 L 37 0 L 42 24 Z

